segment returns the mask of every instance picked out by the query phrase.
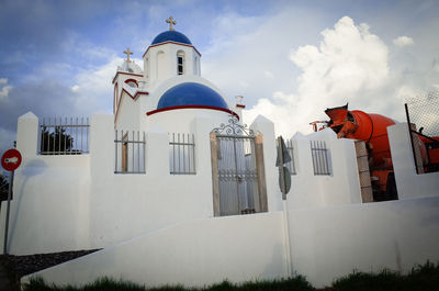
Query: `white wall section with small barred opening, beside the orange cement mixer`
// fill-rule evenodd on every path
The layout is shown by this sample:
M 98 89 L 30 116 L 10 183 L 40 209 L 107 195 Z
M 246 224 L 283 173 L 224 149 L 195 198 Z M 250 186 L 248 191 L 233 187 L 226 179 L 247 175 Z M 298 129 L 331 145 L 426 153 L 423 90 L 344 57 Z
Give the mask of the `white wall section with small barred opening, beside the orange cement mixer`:
M 329 176 L 314 176 L 311 141 L 326 143 Z M 292 138 L 296 175 L 288 194 L 289 208 L 314 208 L 361 203 L 357 157 L 352 139 L 337 139 L 331 130 Z

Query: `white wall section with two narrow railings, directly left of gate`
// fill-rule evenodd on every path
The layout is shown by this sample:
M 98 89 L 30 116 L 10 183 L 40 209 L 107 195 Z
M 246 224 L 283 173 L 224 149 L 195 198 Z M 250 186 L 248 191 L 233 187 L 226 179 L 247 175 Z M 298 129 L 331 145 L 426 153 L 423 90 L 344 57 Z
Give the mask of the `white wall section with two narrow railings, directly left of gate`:
M 146 133 L 146 174 L 115 175 L 111 119 L 110 114 L 102 116 L 102 124 L 97 127 L 100 145 L 108 146 L 91 148 L 92 247 L 115 244 L 177 222 L 213 216 L 207 132 L 211 120 L 195 119 L 191 127 L 195 136 L 205 136 L 196 138 L 196 165 L 202 165 L 196 167 L 196 175 L 169 174 L 169 136 L 158 125 Z

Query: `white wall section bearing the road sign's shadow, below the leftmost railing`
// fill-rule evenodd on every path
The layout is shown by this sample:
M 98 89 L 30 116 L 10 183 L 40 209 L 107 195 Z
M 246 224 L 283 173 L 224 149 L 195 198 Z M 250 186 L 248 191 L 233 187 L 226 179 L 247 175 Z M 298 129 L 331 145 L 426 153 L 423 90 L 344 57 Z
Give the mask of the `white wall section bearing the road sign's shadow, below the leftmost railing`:
M 89 155 L 40 156 L 37 138 L 38 119 L 26 113 L 18 125 L 16 148 L 23 161 L 15 171 L 8 251 L 25 255 L 88 248 Z M 4 221 L 5 211 L 1 211 L 1 234 Z

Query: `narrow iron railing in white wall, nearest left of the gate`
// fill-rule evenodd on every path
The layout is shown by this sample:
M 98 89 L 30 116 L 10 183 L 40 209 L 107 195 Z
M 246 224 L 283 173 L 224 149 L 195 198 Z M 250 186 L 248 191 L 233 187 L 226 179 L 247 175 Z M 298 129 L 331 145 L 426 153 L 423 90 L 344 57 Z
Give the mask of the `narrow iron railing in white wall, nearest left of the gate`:
M 169 170 L 171 175 L 195 175 L 195 136 L 169 134 Z

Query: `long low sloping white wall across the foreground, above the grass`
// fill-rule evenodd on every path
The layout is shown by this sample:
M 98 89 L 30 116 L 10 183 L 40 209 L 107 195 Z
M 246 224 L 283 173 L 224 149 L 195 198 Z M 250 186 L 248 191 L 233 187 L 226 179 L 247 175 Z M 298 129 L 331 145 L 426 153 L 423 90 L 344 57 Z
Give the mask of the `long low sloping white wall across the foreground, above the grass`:
M 436 262 L 438 213 L 438 197 L 290 210 L 293 271 L 320 288 L 354 269 L 407 272 Z M 79 286 L 108 276 L 148 287 L 286 278 L 283 222 L 282 212 L 184 222 L 32 276 Z

